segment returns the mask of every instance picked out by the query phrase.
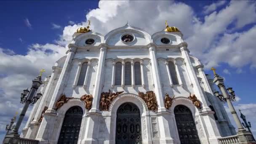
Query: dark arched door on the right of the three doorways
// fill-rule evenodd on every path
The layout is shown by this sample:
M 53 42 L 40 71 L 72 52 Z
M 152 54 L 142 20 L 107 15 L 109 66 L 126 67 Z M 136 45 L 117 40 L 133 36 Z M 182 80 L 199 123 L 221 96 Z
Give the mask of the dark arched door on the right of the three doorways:
M 184 105 L 174 108 L 176 125 L 181 144 L 201 144 L 190 109 Z

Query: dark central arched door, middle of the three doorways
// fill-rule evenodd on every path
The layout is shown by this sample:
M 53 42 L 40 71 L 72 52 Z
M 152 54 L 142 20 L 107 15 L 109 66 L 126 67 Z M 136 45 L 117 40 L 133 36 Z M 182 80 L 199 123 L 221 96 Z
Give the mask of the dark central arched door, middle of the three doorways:
M 124 103 L 117 109 L 116 144 L 142 144 L 141 115 L 133 103 Z

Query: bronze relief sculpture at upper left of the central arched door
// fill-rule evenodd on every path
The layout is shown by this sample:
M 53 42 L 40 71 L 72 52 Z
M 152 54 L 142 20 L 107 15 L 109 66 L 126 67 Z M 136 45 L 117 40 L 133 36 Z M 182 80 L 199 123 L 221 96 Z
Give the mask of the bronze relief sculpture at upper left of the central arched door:
M 112 93 L 110 90 L 109 90 L 109 92 L 102 92 L 99 109 L 101 111 L 107 111 L 109 109 L 111 102 L 121 93 L 123 93 L 123 91 L 119 91 L 116 93 Z

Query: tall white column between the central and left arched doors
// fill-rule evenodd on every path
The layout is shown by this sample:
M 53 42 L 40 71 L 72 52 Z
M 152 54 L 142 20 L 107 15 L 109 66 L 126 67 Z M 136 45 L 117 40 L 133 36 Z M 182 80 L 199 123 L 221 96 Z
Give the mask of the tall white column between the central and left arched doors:
M 101 113 L 99 110 L 99 103 L 101 97 L 101 88 L 102 88 L 102 77 L 104 75 L 104 64 L 106 59 L 107 46 L 100 45 L 99 53 L 99 62 L 96 72 L 96 80 L 93 91 L 93 104 L 91 110 L 86 115 L 85 120 L 85 131 L 81 144 L 98 144 L 98 135 L 99 135 L 99 119 Z

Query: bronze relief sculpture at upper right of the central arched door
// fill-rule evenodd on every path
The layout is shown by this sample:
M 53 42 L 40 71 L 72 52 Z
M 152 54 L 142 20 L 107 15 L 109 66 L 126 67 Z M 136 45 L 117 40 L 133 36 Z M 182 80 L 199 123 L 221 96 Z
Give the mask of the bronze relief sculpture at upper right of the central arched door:
M 147 91 L 146 94 L 139 93 L 139 97 L 145 101 L 149 110 L 157 111 L 157 101 L 153 91 Z

